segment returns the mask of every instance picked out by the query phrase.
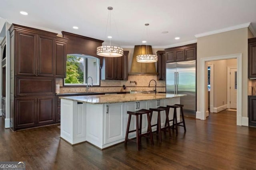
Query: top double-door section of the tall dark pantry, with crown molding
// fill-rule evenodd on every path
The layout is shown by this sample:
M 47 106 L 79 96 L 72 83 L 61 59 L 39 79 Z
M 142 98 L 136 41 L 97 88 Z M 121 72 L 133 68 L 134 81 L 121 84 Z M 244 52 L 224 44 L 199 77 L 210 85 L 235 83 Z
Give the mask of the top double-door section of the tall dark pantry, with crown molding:
M 55 76 L 56 33 L 13 24 L 16 76 Z

